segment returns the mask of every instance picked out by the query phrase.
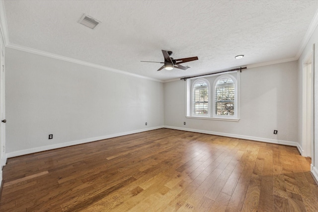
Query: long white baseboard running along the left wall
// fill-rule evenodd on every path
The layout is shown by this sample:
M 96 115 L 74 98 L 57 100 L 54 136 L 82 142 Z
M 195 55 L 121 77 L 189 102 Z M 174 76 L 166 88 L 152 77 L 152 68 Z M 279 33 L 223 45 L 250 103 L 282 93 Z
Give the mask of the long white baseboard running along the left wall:
M 163 128 L 163 126 L 146 128 L 146 129 L 129 131 L 129 132 L 123 132 L 123 133 L 117 133 L 117 134 L 111 134 L 111 135 L 94 137 L 94 138 L 88 138 L 88 139 L 77 140 L 77 141 L 70 141 L 70 142 L 65 142 L 65 143 L 57 143 L 57 144 L 53 144 L 53 145 L 40 146 L 40 147 L 29 148 L 29 149 L 23 149 L 23 150 L 19 150 L 19 151 L 8 152 L 5 154 L 5 156 L 6 156 L 6 158 L 16 157 L 16 156 L 21 156 L 21 155 L 25 155 L 25 154 L 35 153 L 35 152 L 46 151 L 46 150 L 51 150 L 51 149 L 56 149 L 56 148 L 67 147 L 67 146 L 73 146 L 73 145 L 78 145 L 78 144 L 88 143 L 88 142 L 93 142 L 93 141 L 99 141 L 99 140 L 104 140 L 104 139 L 111 139 L 111 138 L 115 138 L 115 137 L 119 137 L 119 136 L 126 136 L 126 135 L 130 135 L 130 134 L 135 134 L 135 133 L 142 133 L 142 132 L 157 130 L 157 129 L 161 129 L 161 128 Z

